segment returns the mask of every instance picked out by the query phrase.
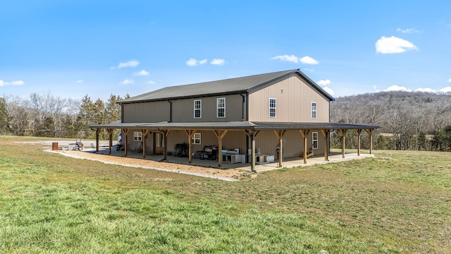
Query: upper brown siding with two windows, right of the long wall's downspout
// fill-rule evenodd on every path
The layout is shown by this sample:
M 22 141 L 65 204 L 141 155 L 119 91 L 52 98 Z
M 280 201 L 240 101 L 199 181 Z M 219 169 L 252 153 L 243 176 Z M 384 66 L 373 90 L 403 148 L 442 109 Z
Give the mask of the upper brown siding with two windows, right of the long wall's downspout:
M 226 117 L 216 117 L 216 99 L 226 98 Z M 194 100 L 202 101 L 202 118 L 194 119 Z M 199 97 L 193 99 L 173 100 L 173 122 L 212 122 L 212 121 L 242 121 L 242 112 L 246 112 L 246 103 L 240 95 L 215 97 Z

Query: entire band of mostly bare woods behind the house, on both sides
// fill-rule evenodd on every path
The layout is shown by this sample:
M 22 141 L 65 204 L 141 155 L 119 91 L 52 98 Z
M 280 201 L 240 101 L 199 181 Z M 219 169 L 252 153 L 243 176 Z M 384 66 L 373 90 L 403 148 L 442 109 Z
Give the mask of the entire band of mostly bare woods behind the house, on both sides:
M 94 124 L 121 119 L 124 97 L 105 102 L 88 95 L 81 100 L 32 93 L 26 98 L 0 97 L 0 134 L 57 138 L 95 138 Z M 451 150 L 451 96 L 428 92 L 376 92 L 338 97 L 330 103 L 330 121 L 381 126 L 373 132 L 379 150 Z M 115 135 L 118 134 L 116 130 Z M 106 139 L 102 131 L 99 138 Z M 357 133 L 346 133 L 346 147 L 357 148 Z M 341 147 L 340 135 L 330 135 L 331 147 Z M 361 135 L 362 148 L 369 137 Z

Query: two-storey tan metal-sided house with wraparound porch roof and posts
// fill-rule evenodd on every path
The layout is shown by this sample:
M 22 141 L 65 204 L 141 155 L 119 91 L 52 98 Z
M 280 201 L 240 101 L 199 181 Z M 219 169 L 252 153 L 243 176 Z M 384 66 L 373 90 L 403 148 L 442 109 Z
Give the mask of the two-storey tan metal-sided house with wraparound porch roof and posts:
M 330 131 L 342 136 L 343 157 L 348 130 L 357 131 L 359 138 L 365 130 L 372 143 L 371 131 L 378 126 L 330 123 L 333 100 L 294 69 L 164 87 L 118 102 L 121 120 L 92 128 L 97 129 L 97 140 L 101 129 L 109 131 L 110 152 L 111 133 L 120 128 L 125 156 L 140 147 L 143 157 L 161 154 L 168 159 L 168 154 L 185 155 L 186 145 L 189 162 L 199 151 L 213 147 L 218 167 L 231 159 L 229 154 L 242 155 L 240 161 L 250 163 L 252 170 L 265 157 L 275 157 L 282 167 L 283 159 L 303 157 L 307 163 L 311 152 L 327 160 Z

